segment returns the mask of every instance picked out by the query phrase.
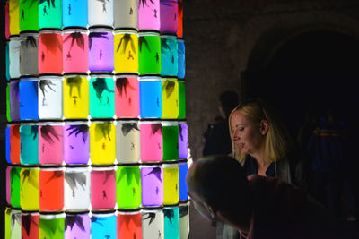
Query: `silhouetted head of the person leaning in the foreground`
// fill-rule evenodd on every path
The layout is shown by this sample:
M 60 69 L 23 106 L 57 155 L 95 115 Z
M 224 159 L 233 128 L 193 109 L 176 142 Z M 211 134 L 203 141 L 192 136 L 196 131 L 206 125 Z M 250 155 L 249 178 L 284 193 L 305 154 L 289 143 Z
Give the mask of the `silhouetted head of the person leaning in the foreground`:
M 188 193 L 202 216 L 248 228 L 252 195 L 237 160 L 224 155 L 200 158 L 189 168 L 187 184 Z

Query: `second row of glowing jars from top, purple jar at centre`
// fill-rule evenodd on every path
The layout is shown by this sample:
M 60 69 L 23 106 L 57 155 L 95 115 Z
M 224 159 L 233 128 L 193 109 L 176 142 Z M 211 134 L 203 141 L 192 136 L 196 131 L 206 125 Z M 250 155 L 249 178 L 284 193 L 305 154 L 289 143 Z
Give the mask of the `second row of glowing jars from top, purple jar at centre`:
M 185 78 L 184 40 L 109 29 L 24 32 L 7 43 L 7 79 L 41 73 L 153 73 Z

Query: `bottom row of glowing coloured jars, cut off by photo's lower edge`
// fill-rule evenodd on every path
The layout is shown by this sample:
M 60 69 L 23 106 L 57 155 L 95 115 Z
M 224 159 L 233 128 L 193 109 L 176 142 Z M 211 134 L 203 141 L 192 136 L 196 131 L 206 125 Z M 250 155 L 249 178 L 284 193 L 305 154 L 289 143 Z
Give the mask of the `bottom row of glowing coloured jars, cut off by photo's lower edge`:
M 42 214 L 5 209 L 5 239 L 188 239 L 189 202 L 178 207 Z

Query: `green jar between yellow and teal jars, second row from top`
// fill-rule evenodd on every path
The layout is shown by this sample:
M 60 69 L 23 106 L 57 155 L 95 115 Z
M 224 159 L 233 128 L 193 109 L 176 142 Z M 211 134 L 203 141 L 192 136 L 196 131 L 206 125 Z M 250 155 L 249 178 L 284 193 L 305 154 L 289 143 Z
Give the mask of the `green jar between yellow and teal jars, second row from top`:
M 138 73 L 161 73 L 161 39 L 158 32 L 138 33 Z

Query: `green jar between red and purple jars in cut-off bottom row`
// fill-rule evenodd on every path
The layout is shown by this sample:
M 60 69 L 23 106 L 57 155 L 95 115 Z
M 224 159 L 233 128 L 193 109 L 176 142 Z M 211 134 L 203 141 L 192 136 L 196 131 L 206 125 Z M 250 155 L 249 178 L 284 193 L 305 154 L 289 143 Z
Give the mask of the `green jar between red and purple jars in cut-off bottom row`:
M 64 232 L 65 213 L 39 215 L 39 238 L 63 239 Z

